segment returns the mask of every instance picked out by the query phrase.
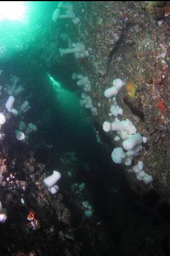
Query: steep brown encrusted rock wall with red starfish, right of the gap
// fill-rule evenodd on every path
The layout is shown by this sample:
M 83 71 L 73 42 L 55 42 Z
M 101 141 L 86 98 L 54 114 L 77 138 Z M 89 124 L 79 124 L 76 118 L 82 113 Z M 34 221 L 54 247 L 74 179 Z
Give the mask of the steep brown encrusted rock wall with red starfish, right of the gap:
M 61 54 L 60 57 L 57 53 L 57 61 L 61 67 L 68 64 L 69 72 L 88 78 L 90 89 L 88 93 L 84 91 L 90 98 L 84 94 L 81 96 L 83 87 L 78 84 L 76 91 L 78 89 L 77 93 L 82 97 L 82 105 L 87 111 L 91 109 L 90 115 L 94 115 L 94 122 L 97 121 L 101 127 L 105 121 L 114 121 L 110 114 L 113 100 L 108 100 L 104 92 L 112 86 L 113 79 L 122 79 L 124 85 L 116 102 L 123 109 L 123 114 L 118 118 L 130 119 L 136 130 L 147 138 L 147 144 L 134 157 L 131 166 L 123 164 L 125 175 L 137 193 L 143 195 L 154 190 L 158 195 L 156 198 L 160 196 L 160 202 L 168 202 L 169 3 L 95 1 L 76 2 L 73 8 L 80 21 L 77 24 L 69 21 L 65 25 L 64 31 L 67 28 L 69 31 L 66 40 L 70 44 L 82 42 L 83 50 L 88 54 L 86 56 L 83 52 L 82 58 L 73 57 L 72 66 L 68 63 L 69 54 Z M 60 33 L 59 30 L 58 35 Z M 96 109 L 95 113 L 92 108 Z M 114 141 L 115 132 L 107 136 L 112 140 L 113 148 L 122 147 L 120 141 Z M 153 177 L 150 184 L 139 181 L 132 170 L 139 160 L 143 162 L 145 173 Z

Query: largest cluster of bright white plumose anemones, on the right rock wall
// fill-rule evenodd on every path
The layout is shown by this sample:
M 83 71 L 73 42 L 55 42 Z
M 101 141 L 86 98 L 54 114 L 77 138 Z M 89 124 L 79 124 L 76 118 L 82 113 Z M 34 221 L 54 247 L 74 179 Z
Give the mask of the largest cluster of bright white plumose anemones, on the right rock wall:
M 122 147 L 114 148 L 112 152 L 112 159 L 114 163 L 124 163 L 127 166 L 132 164 L 132 159 L 137 156 L 142 150 L 142 143 L 147 142 L 147 138 L 137 133 L 136 127 L 129 119 L 119 120 L 118 115 L 123 115 L 123 109 L 121 109 L 116 103 L 116 96 L 119 90 L 123 86 L 123 81 L 117 78 L 113 80 L 113 86 L 105 90 L 105 97 L 110 98 L 113 96 L 113 105 L 111 106 L 111 115 L 115 116 L 113 123 L 105 121 L 103 129 L 106 132 L 117 131 L 117 136 L 114 137 L 115 141 L 121 141 Z M 149 184 L 153 181 L 151 175 L 146 174 L 143 171 L 143 162 L 139 161 L 138 164 L 132 167 L 136 178 L 143 180 L 145 184 Z

